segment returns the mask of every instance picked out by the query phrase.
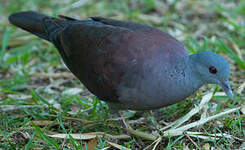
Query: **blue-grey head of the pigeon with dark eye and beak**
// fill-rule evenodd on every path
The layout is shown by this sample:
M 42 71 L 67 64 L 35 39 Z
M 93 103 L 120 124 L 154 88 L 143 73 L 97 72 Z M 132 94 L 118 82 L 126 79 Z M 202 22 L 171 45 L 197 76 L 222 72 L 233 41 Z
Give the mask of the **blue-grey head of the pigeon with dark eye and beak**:
M 205 83 L 220 85 L 227 96 L 232 99 L 232 90 L 228 82 L 230 73 L 229 63 L 220 55 L 203 51 L 190 55 L 194 72 L 198 80 Z

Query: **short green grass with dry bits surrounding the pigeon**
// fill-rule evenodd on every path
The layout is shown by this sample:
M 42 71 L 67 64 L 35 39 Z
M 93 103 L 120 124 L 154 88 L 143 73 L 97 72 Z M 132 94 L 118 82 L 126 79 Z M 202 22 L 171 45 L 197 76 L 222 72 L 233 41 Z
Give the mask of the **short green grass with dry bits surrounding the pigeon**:
M 8 23 L 7 17 L 11 13 L 30 9 L 53 16 L 65 14 L 85 19 L 100 15 L 140 22 L 170 33 L 185 44 L 189 53 L 216 52 L 231 64 L 230 82 L 235 97 L 233 101 L 227 96 L 213 97 L 208 104 L 209 115 L 228 108 L 242 106 L 244 109 L 245 93 L 237 91 L 245 81 L 245 1 L 10 0 L 0 5 L 0 149 L 102 149 L 112 146 L 107 141 L 125 148 L 143 149 L 152 143 L 133 136 L 116 139 L 104 135 L 82 140 L 72 136 L 67 139 L 48 136 L 91 132 L 119 135 L 123 130 L 117 122 L 107 120 L 110 118 L 107 105 L 69 74 L 53 45 Z M 205 86 L 185 101 L 162 108 L 155 125 L 150 123 L 152 120 L 148 118 L 152 116 L 148 113 L 125 112 L 125 115 L 135 122 L 133 128 L 153 133 L 156 126 L 164 126 L 161 121 L 172 122 L 183 116 L 214 87 Z M 219 87 L 217 90 L 222 91 Z M 199 115 L 193 116 L 189 122 L 198 118 Z M 191 131 L 227 133 L 244 139 L 244 111 Z M 202 149 L 244 147 L 244 141 L 227 138 L 192 140 Z M 183 135 L 163 138 L 156 149 L 193 149 L 196 145 Z

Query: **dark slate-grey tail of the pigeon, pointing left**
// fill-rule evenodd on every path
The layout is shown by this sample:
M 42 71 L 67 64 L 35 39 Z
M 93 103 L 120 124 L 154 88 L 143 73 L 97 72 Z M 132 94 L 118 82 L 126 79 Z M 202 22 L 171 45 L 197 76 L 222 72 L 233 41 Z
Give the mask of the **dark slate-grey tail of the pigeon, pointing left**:
M 52 18 L 34 11 L 14 13 L 9 16 L 9 21 L 50 42 L 53 42 L 65 25 L 63 19 Z

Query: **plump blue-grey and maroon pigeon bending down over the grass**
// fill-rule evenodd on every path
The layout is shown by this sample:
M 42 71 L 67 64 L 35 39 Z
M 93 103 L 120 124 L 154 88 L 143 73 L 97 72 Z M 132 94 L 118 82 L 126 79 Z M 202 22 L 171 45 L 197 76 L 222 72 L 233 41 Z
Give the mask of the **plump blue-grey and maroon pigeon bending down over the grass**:
M 211 51 L 189 55 L 184 44 L 157 28 L 35 11 L 13 13 L 9 21 L 53 43 L 67 68 L 112 110 L 162 108 L 205 84 L 217 84 L 233 97 L 229 63 L 222 56 Z

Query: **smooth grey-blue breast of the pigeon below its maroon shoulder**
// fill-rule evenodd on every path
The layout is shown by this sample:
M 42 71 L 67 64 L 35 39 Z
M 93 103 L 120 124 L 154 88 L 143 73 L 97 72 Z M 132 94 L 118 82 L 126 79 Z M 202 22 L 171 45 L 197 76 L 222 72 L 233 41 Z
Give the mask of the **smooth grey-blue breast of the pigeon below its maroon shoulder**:
M 163 60 L 146 60 L 125 72 L 117 88 L 126 109 L 156 109 L 186 97 L 186 74 L 182 66 Z M 188 93 L 188 92 L 187 92 Z

